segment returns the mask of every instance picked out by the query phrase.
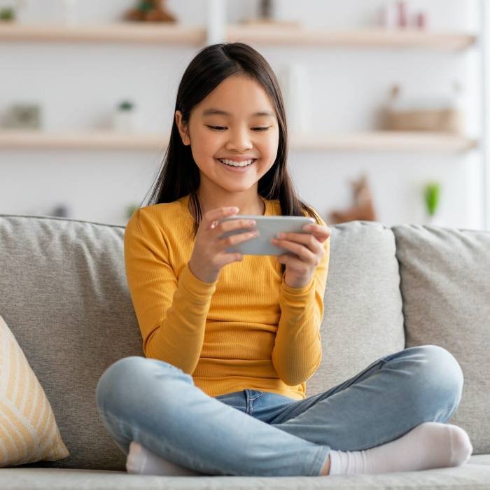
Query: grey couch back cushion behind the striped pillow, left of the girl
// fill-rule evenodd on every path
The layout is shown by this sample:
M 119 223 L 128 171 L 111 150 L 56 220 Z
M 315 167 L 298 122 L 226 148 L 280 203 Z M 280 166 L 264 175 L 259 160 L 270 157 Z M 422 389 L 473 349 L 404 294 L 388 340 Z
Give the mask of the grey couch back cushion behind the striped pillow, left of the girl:
M 142 355 L 123 234 L 121 226 L 0 216 L 0 312 L 41 382 L 71 453 L 36 465 L 125 467 L 95 405 L 106 367 Z

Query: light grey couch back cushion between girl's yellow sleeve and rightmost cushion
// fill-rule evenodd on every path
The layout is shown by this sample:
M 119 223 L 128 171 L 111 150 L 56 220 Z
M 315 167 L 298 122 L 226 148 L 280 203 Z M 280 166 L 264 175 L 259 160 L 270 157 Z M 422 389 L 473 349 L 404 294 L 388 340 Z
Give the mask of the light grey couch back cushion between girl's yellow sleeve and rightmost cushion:
M 395 237 L 381 223 L 330 226 L 321 324 L 323 358 L 307 395 L 335 386 L 405 347 Z

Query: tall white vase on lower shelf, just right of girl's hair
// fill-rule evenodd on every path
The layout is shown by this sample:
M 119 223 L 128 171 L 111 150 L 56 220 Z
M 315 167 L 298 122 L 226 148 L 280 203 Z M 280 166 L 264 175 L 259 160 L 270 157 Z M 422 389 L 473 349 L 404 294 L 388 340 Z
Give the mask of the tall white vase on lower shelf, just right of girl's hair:
M 307 134 L 311 119 L 311 87 L 303 64 L 289 63 L 279 72 L 279 85 L 286 107 L 288 130 L 292 134 Z

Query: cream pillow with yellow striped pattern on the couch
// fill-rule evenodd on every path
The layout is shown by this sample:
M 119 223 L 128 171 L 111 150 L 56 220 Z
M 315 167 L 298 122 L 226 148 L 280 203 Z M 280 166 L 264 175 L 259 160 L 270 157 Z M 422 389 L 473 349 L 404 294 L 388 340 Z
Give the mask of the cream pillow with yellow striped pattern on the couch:
M 50 402 L 0 316 L 0 468 L 69 455 Z

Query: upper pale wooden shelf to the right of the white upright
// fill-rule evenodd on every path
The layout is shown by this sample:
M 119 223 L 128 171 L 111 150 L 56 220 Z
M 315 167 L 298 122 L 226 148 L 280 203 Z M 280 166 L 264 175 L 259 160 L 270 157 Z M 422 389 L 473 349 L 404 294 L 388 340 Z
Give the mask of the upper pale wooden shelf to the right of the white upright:
M 226 40 L 244 43 L 324 45 L 339 48 L 430 48 L 461 50 L 474 44 L 472 34 L 415 29 L 354 29 L 332 31 L 288 26 L 229 25 Z

